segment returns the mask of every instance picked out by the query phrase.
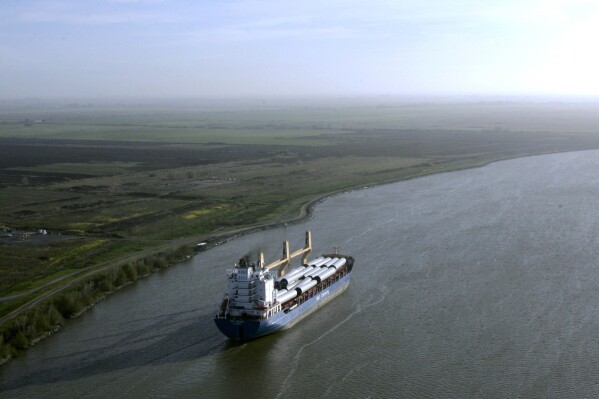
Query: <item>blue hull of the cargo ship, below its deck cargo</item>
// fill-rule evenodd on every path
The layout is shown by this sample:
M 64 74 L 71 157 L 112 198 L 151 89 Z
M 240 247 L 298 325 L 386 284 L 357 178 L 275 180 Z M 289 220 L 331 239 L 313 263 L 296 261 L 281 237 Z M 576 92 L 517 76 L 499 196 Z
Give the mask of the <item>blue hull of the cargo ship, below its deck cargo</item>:
M 214 322 L 223 334 L 235 340 L 250 340 L 272 334 L 293 326 L 319 307 L 343 293 L 349 285 L 350 278 L 351 273 L 348 273 L 343 278 L 339 279 L 339 281 L 328 288 L 323 289 L 321 292 L 290 310 L 288 313 L 280 311 L 264 320 L 234 320 L 217 317 L 214 319 Z

